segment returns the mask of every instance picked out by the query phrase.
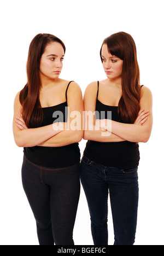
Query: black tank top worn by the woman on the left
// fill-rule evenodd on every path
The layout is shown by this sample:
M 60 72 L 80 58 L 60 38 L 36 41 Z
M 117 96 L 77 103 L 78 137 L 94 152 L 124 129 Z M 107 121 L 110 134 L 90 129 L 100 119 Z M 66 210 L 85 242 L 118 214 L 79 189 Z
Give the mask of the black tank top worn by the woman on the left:
M 73 81 L 71 81 L 73 82 Z M 69 85 L 67 86 L 67 90 Z M 53 107 L 46 107 L 43 109 L 43 123 L 42 126 L 50 125 L 60 122 L 67 122 L 67 90 L 66 90 L 66 102 L 58 104 Z M 60 112 L 59 115 L 54 116 L 54 112 Z M 61 115 L 62 113 L 62 115 Z M 59 120 L 60 118 L 60 120 Z M 63 147 L 31 147 L 24 148 L 24 154 L 26 158 L 33 164 L 49 167 L 49 168 L 62 168 L 69 167 L 80 162 L 80 149 L 79 143 L 73 143 Z

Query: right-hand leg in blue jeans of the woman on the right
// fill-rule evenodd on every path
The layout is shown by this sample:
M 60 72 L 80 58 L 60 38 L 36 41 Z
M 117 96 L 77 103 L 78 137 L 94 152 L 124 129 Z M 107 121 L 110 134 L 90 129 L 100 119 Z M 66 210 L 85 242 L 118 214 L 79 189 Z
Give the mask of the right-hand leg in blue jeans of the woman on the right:
M 137 168 L 110 173 L 109 192 L 116 245 L 133 245 L 138 211 Z

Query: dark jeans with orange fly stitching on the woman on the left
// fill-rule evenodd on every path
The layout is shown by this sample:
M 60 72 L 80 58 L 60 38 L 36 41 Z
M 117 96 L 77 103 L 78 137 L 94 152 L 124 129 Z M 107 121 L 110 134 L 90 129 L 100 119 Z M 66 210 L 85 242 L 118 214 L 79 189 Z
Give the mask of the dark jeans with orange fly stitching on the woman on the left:
M 52 169 L 24 157 L 22 184 L 37 222 L 39 245 L 74 245 L 80 195 L 80 163 Z

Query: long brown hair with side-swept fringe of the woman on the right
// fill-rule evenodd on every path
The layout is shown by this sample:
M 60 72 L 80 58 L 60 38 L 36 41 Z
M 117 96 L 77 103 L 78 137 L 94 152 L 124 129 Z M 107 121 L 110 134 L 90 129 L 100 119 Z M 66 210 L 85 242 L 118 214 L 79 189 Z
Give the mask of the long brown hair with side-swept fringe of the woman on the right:
M 119 101 L 118 113 L 122 123 L 133 124 L 140 110 L 139 66 L 136 44 L 131 35 L 125 32 L 112 34 L 112 36 L 104 39 L 103 44 L 107 44 L 110 54 L 123 60 L 122 96 Z M 100 56 L 103 62 L 102 48 Z

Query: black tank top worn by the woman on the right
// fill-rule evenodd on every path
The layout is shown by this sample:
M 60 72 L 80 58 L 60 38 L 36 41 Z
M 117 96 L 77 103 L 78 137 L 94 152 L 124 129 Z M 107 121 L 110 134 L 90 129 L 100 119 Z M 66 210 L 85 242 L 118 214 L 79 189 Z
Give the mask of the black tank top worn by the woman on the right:
M 99 82 L 98 82 L 99 89 Z M 119 121 L 118 107 L 108 106 L 96 100 L 96 119 L 111 119 L 108 112 L 112 112 L 112 120 Z M 137 143 L 123 142 L 96 142 L 88 141 L 84 150 L 84 155 L 91 161 L 98 164 L 117 167 L 117 168 L 135 168 L 139 165 L 139 146 Z

